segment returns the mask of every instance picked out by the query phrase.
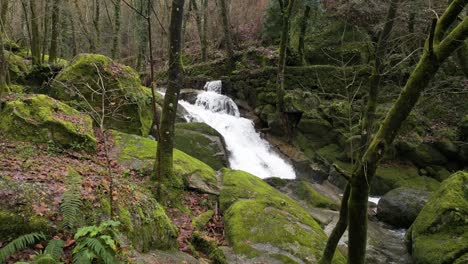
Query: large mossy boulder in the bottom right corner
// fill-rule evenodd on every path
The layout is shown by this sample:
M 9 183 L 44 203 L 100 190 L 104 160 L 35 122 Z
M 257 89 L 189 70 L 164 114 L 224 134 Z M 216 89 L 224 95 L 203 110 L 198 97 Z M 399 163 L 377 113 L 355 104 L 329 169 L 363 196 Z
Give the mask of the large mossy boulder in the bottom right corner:
M 416 263 L 466 263 L 467 219 L 468 173 L 460 171 L 442 183 L 408 231 Z

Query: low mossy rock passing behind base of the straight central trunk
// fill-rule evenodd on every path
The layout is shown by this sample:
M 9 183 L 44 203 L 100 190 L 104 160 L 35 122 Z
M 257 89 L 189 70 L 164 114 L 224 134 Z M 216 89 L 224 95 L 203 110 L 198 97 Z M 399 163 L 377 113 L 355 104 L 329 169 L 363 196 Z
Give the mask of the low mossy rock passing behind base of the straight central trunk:
M 151 175 L 156 160 L 157 142 L 149 138 L 112 131 L 116 160 L 124 166 Z M 194 188 L 206 193 L 219 192 L 215 171 L 200 160 L 174 150 L 174 186 Z

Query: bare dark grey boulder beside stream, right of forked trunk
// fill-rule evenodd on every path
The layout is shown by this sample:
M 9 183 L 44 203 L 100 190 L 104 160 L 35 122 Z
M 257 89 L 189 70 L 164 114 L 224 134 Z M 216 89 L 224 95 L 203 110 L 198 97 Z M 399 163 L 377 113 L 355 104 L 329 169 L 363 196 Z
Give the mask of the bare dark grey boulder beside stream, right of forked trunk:
M 386 193 L 377 206 L 377 218 L 395 227 L 408 228 L 429 199 L 429 192 L 400 187 Z

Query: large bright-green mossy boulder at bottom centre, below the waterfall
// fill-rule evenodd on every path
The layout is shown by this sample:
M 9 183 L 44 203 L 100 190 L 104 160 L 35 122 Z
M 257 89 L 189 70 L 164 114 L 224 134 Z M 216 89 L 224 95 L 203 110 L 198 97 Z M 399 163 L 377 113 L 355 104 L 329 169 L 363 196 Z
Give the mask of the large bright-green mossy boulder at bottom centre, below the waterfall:
M 316 263 L 327 237 L 296 201 L 249 173 L 223 170 L 220 206 L 225 232 L 237 254 L 286 263 Z M 336 253 L 334 263 L 345 263 Z

